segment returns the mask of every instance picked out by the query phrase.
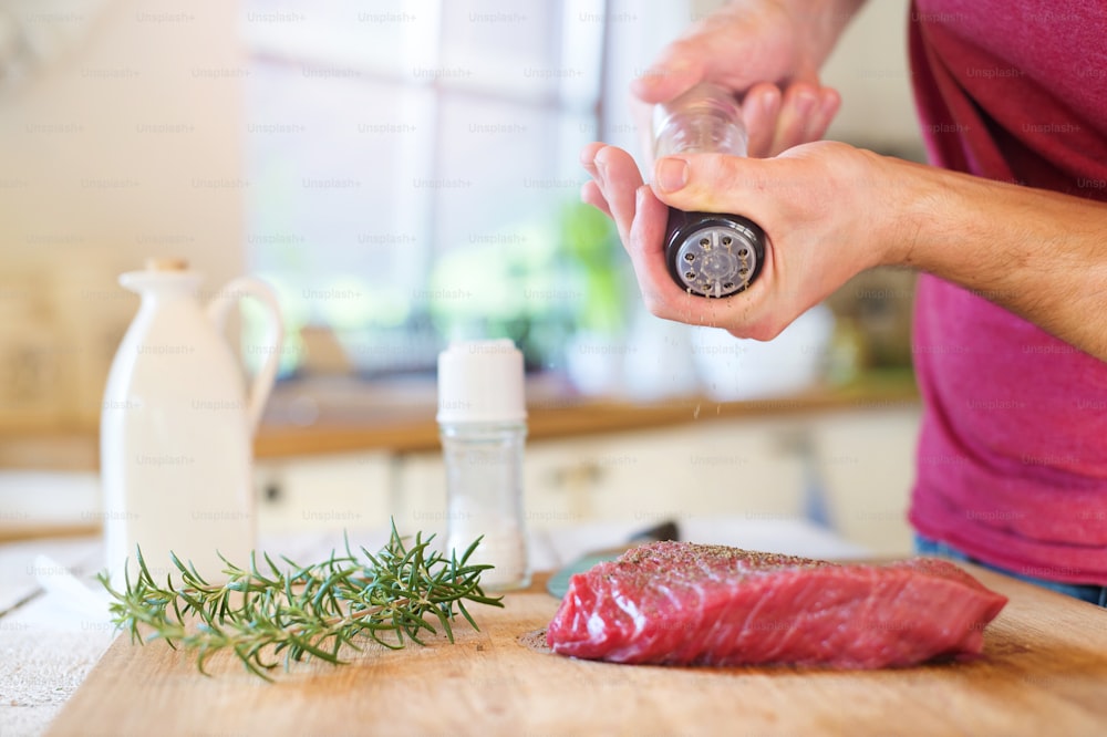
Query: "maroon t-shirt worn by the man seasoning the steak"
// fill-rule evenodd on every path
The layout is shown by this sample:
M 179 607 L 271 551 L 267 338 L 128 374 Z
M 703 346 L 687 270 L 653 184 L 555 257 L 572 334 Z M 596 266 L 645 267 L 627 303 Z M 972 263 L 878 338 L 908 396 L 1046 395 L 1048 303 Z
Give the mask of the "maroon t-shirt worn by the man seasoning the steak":
M 910 50 L 934 164 L 1107 200 L 1107 4 L 914 0 Z M 1107 585 L 1107 363 L 986 297 L 920 278 L 911 522 L 1018 573 Z

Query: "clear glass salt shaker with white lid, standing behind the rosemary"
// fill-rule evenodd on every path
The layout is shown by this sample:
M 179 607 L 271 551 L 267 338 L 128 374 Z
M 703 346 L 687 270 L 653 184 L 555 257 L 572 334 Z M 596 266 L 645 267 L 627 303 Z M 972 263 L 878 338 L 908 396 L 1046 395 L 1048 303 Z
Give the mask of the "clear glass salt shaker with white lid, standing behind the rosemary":
M 523 511 L 527 409 L 523 354 L 509 340 L 461 341 L 438 355 L 438 414 L 446 466 L 446 549 L 458 557 L 482 537 L 470 563 L 489 591 L 530 583 Z

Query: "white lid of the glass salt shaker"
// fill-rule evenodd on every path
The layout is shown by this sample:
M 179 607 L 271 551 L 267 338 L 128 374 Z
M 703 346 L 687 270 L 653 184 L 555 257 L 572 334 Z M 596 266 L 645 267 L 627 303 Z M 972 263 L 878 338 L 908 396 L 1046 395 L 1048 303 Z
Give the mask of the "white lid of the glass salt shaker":
M 438 354 L 439 423 L 507 423 L 527 417 L 523 353 L 507 339 L 457 341 Z

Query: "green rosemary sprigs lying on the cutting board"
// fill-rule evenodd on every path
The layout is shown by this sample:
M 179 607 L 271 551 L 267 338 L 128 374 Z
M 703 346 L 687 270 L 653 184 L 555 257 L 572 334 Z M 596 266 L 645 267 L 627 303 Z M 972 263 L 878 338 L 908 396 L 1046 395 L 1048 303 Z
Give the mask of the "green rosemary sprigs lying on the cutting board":
M 451 622 L 458 612 L 478 629 L 465 602 L 504 605 L 503 598 L 480 589 L 480 573 L 492 565 L 468 563 L 480 538 L 459 560 L 430 548 L 433 539 L 420 532 L 407 547 L 393 522 L 389 542 L 376 554 L 360 548 L 361 557 L 355 556 L 346 539 L 345 554 L 332 551 L 312 565 L 282 556 L 282 568 L 263 554 L 259 567 L 251 553 L 249 569 L 241 569 L 220 556 L 227 577 L 220 584 L 208 583 L 170 552 L 179 587 L 172 573 L 159 585 L 137 550 L 137 580 L 132 582 L 127 572 L 123 591 L 112 588 L 106 572 L 97 579 L 114 599 L 112 621 L 130 631 L 132 642 L 164 640 L 195 651 L 205 675 L 206 660 L 229 650 L 251 673 L 271 681 L 266 672 L 281 654 L 286 671 L 306 656 L 340 665 L 343 645 L 361 650 L 356 641 L 364 637 L 393 650 L 407 641 L 423 645 L 421 635 L 437 632 L 433 621 L 454 642 Z M 149 631 L 145 639 L 143 631 Z

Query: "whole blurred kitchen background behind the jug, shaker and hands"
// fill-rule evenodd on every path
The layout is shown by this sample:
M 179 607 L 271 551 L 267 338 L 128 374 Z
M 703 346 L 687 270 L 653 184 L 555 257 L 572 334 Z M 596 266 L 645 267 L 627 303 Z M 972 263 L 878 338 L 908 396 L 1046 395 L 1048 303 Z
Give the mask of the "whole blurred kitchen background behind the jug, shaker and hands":
M 436 355 L 508 336 L 534 525 L 798 516 L 906 550 L 912 276 L 735 341 L 644 313 L 579 204 L 580 147 L 640 149 L 629 82 L 716 4 L 0 0 L 0 529 L 95 526 L 104 381 L 137 308 L 117 274 L 172 256 L 209 294 L 248 272 L 280 297 L 266 529 L 441 519 Z M 875 0 L 850 27 L 829 137 L 921 159 L 907 13 Z M 256 364 L 252 328 L 247 309 Z

